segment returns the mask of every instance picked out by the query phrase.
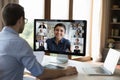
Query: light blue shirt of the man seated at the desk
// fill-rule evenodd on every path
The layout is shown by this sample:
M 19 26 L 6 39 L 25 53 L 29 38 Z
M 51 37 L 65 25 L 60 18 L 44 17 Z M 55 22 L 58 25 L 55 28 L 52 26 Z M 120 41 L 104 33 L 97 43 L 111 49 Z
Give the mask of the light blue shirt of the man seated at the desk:
M 12 28 L 4 27 L 0 32 L 0 80 L 23 80 L 25 67 L 34 76 L 44 70 L 28 43 Z

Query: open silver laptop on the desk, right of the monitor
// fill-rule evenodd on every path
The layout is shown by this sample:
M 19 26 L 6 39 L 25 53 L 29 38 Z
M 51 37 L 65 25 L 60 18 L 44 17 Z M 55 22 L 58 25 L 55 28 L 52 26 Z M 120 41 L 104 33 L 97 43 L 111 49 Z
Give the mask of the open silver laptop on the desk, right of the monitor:
M 120 52 L 110 48 L 102 66 L 84 67 L 83 71 L 88 75 L 113 75 L 119 58 Z

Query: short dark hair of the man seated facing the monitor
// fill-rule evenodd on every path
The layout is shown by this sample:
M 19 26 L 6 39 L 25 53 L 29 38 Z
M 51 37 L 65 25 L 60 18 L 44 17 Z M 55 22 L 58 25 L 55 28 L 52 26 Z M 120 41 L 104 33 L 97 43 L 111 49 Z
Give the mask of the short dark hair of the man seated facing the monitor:
M 19 4 L 9 3 L 2 10 L 3 22 L 6 26 L 15 25 L 22 16 L 25 18 L 24 8 Z

